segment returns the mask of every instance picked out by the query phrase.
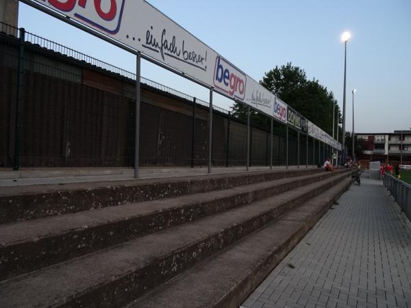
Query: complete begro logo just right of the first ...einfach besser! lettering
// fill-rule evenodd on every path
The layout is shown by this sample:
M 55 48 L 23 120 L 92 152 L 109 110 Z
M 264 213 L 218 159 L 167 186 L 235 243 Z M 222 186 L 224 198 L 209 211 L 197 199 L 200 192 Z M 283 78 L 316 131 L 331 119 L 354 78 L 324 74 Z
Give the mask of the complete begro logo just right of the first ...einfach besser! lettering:
M 214 86 L 216 88 L 229 94 L 230 97 L 244 99 L 246 82 L 247 76 L 244 73 L 217 55 L 214 68 Z

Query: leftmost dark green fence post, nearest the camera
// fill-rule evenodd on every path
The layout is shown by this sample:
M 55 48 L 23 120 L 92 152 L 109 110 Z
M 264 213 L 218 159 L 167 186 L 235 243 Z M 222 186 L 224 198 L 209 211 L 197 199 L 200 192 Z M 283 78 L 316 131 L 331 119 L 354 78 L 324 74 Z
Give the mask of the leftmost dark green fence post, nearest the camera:
M 23 117 L 23 78 L 24 78 L 24 41 L 25 29 L 20 28 L 20 38 L 18 41 L 18 73 L 17 73 L 17 93 L 16 93 L 16 118 L 14 123 L 14 157 L 13 170 L 20 170 L 20 150 L 21 150 L 21 120 Z

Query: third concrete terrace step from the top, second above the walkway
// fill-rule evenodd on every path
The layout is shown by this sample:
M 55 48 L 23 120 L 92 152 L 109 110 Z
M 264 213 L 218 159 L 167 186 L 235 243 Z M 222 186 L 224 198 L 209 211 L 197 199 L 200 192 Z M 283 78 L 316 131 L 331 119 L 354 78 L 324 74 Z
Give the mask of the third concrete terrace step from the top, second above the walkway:
M 320 194 L 325 187 L 345 183 L 349 174 L 341 172 L 264 201 L 14 277 L 0 283 L 0 298 L 4 307 L 125 305 L 263 227 L 286 209 Z

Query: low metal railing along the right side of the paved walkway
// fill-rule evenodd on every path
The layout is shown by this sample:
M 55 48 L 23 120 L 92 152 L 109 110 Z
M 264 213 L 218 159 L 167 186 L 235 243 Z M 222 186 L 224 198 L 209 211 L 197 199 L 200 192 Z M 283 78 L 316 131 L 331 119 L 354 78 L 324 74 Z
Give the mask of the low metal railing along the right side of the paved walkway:
M 384 174 L 383 183 L 384 187 L 394 197 L 399 207 L 401 207 L 401 211 L 411 221 L 411 185 L 387 174 Z

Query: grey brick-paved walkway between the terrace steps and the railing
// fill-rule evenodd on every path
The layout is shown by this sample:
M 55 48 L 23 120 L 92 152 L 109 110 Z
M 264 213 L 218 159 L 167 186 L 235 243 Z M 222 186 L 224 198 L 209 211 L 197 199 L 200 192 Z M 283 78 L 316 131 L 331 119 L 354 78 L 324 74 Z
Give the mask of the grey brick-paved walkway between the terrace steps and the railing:
M 411 308 L 411 224 L 382 184 L 351 186 L 242 307 Z

